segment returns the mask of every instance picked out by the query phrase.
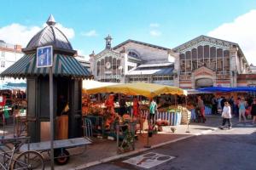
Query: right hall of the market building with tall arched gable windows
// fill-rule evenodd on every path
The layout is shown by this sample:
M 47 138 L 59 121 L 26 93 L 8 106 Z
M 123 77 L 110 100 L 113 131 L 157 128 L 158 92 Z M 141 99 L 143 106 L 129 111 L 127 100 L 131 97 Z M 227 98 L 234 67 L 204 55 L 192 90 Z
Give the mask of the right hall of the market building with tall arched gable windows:
M 237 76 L 251 72 L 235 42 L 200 36 L 172 49 L 177 53 L 180 88 L 236 87 Z

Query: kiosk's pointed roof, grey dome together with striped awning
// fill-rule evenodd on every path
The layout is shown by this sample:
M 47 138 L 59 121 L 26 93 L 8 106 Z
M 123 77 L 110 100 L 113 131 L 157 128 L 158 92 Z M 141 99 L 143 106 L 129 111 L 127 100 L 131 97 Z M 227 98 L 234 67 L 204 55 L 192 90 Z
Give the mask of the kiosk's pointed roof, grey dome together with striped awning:
M 53 46 L 54 63 L 53 74 L 55 77 L 74 77 L 86 78 L 90 77 L 90 72 L 80 65 L 79 61 L 74 58 L 77 51 L 73 50 L 71 43 L 67 37 L 55 27 L 55 19 L 49 16 L 43 30 L 39 31 L 31 41 L 28 42 L 26 48 L 22 51 L 25 55 L 3 71 L 0 77 L 38 77 L 47 76 L 49 68 L 37 68 L 36 52 L 38 47 Z

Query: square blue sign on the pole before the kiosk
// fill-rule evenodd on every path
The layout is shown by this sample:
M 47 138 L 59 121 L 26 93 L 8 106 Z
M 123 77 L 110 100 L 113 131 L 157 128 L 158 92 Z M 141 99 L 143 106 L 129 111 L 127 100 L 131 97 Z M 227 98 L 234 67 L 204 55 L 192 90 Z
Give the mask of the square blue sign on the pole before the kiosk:
M 37 49 L 37 67 L 49 67 L 53 63 L 52 46 L 44 46 Z

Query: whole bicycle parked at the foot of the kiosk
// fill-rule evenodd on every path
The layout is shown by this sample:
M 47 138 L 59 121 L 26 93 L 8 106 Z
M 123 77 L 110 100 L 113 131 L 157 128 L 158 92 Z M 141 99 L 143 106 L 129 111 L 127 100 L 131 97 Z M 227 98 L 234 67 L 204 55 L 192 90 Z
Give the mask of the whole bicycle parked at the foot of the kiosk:
M 44 169 L 44 156 L 39 152 L 28 150 L 19 153 L 20 146 L 25 143 L 24 139 L 28 138 L 2 139 L 0 143 L 1 169 Z

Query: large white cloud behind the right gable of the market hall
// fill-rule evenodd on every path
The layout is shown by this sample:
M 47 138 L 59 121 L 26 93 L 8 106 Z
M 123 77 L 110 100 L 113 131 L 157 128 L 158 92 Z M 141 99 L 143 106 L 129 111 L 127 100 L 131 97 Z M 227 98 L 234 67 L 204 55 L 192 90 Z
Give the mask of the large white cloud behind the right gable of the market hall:
M 208 36 L 217 37 L 240 45 L 248 63 L 256 65 L 256 9 L 238 16 L 230 23 L 224 23 L 208 32 Z

